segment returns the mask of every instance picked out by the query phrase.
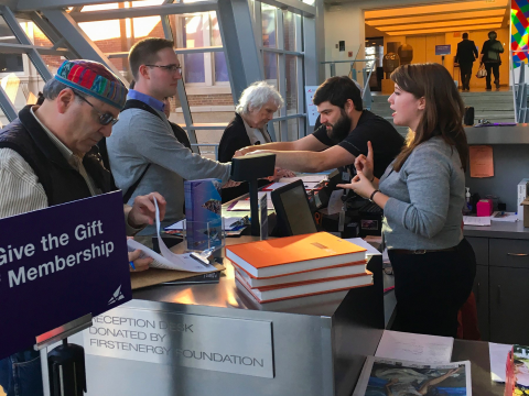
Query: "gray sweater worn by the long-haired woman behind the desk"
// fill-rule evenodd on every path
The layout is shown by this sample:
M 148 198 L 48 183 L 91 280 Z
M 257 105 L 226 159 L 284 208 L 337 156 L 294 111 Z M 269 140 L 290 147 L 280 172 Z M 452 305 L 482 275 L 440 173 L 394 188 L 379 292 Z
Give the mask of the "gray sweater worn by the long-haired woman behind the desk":
M 413 150 L 400 172 L 388 166 L 380 191 L 390 197 L 382 223 L 388 249 L 446 249 L 463 239 L 465 174 L 457 150 L 441 138 Z

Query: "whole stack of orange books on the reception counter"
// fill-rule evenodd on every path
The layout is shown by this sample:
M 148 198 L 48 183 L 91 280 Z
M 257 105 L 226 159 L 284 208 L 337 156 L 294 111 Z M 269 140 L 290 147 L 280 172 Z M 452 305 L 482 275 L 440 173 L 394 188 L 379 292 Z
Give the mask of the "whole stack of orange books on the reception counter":
M 327 232 L 227 246 L 226 257 L 259 302 L 373 285 L 366 250 Z

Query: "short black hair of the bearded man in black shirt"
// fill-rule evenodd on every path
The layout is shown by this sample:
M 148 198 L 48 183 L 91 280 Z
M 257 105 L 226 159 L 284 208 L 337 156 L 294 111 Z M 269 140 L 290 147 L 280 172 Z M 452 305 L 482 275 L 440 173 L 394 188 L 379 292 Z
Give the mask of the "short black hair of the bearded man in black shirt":
M 343 109 L 347 99 L 353 100 L 356 111 L 364 110 L 361 92 L 356 84 L 347 76 L 331 77 L 317 87 L 313 102 L 319 106 L 324 101 L 328 101 L 331 105 Z

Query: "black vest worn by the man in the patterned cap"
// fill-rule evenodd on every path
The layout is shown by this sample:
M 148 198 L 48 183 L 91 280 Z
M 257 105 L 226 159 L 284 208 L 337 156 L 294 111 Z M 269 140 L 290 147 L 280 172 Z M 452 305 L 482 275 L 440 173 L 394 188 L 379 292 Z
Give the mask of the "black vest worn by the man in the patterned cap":
M 83 176 L 61 154 L 31 114 L 30 108 L 31 106 L 24 107 L 19 112 L 19 118 L 0 131 L 0 147 L 14 150 L 30 164 L 44 187 L 48 206 L 90 197 Z M 85 154 L 83 165 L 102 193 L 116 189 L 97 146 Z

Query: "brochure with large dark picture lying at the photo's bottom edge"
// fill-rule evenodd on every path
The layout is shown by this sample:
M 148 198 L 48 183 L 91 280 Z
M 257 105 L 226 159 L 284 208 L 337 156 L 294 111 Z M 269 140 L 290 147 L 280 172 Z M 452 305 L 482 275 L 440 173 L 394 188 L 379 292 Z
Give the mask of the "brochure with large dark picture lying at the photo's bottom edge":
M 353 396 L 472 396 L 471 362 L 425 364 L 367 356 Z

